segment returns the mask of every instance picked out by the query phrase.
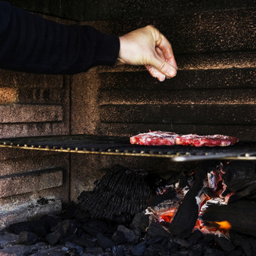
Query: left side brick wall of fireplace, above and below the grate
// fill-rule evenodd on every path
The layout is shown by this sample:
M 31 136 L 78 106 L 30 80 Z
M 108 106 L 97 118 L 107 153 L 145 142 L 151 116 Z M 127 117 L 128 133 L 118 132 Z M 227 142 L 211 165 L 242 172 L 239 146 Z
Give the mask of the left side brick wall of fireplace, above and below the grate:
M 69 76 L 0 70 L 0 137 L 68 135 L 69 87 Z M 0 149 L 0 230 L 68 200 L 69 154 Z

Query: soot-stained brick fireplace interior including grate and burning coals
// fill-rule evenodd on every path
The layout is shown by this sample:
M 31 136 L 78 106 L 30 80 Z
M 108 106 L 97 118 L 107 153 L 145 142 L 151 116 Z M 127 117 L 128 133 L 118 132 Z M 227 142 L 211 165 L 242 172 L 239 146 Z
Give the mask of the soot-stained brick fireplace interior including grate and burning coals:
M 0 255 L 256 254 L 254 1 L 9 2 L 115 35 L 152 24 L 178 74 L 0 70 Z M 239 142 L 130 145 L 149 130 Z

